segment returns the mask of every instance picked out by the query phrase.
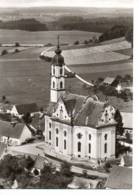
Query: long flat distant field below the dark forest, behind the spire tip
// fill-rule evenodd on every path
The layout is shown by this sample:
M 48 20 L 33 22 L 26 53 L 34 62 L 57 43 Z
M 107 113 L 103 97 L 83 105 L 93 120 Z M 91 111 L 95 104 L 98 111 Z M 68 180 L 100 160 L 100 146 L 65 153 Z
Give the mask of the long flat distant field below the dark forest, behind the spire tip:
M 74 43 L 75 41 L 84 41 L 91 39 L 93 35 L 100 33 L 85 31 L 40 31 L 27 32 L 20 30 L 0 30 L 0 43 L 42 43 L 56 44 L 57 35 L 60 35 L 61 43 Z

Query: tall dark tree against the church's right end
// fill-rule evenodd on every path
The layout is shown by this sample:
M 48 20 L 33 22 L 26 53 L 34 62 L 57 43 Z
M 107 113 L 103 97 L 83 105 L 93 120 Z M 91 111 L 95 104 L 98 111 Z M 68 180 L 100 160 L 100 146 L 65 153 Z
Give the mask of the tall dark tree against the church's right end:
M 123 120 L 122 120 L 122 115 L 120 111 L 117 109 L 114 115 L 114 119 L 117 122 L 116 125 L 116 134 L 123 135 L 124 129 L 123 129 Z

